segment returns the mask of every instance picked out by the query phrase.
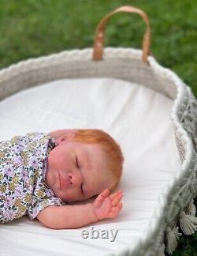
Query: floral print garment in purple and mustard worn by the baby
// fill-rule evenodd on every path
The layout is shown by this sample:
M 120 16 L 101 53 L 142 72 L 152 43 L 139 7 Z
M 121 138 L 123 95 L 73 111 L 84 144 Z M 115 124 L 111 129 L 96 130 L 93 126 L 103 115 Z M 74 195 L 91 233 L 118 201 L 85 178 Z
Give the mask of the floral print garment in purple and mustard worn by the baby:
M 0 142 L 0 223 L 25 214 L 32 220 L 46 206 L 63 203 L 45 182 L 54 146 L 54 138 L 43 133 Z

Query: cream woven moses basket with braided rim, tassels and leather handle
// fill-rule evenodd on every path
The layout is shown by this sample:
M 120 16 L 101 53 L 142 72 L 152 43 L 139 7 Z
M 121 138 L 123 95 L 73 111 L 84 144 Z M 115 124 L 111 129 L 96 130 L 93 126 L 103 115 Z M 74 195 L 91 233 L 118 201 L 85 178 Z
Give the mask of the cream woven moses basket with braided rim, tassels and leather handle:
M 107 21 L 113 13 L 117 12 L 138 13 L 143 17 L 143 21 L 147 24 L 143 51 L 113 47 L 106 47 L 103 51 Z M 151 30 L 147 15 L 135 7 L 122 6 L 100 22 L 95 34 L 93 51 L 92 49 L 64 51 L 55 55 L 29 59 L 0 71 L 1 103 L 17 92 L 50 81 L 92 77 L 110 77 L 133 82 L 140 88 L 150 88 L 173 100 L 170 118 L 173 123 L 177 155 L 181 162 L 180 170 L 160 191 L 157 207 L 138 243 L 132 248 L 116 250 L 118 255 L 172 254 L 177 247 L 179 236 L 191 235 L 197 228 L 193 204 L 193 198 L 197 193 L 197 101 L 191 88 L 171 70 L 160 66 L 150 55 L 150 42 Z M 146 120 L 144 126 L 146 126 Z M 124 187 L 121 189 L 124 190 Z M 34 254 L 30 253 L 30 255 Z

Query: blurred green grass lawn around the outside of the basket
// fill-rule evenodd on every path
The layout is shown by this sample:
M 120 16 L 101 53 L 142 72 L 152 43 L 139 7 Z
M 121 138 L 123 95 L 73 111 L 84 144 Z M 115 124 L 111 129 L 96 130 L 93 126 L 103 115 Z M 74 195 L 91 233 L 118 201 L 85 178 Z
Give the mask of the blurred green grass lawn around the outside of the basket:
M 151 22 L 151 53 L 197 96 L 195 0 L 0 0 L 0 68 L 20 60 L 92 47 L 96 25 L 112 9 L 132 5 Z M 145 25 L 137 14 L 117 13 L 106 46 L 141 48 Z M 173 255 L 197 255 L 197 235 L 182 237 Z

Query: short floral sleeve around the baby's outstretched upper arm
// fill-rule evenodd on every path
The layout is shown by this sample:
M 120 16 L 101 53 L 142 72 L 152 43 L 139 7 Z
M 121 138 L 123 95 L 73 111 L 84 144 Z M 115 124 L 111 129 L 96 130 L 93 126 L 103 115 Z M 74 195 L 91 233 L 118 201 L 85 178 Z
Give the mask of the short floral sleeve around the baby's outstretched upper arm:
M 62 201 L 60 198 L 37 198 L 35 196 L 32 197 L 32 203 L 28 208 L 28 217 L 30 220 L 35 219 L 35 217 L 39 214 L 40 211 L 45 209 L 47 206 L 50 205 L 62 205 Z

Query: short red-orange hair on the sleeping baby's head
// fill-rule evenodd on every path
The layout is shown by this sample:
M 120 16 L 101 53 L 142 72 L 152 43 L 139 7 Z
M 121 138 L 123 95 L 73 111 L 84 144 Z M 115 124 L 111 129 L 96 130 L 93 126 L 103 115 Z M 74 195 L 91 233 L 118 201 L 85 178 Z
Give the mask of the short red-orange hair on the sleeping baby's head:
M 114 177 L 110 192 L 114 190 L 121 179 L 124 156 L 121 152 L 121 147 L 114 141 L 113 137 L 103 130 L 79 129 L 76 130 L 76 136 L 73 141 L 102 146 L 102 150 L 106 154 L 106 166 Z

